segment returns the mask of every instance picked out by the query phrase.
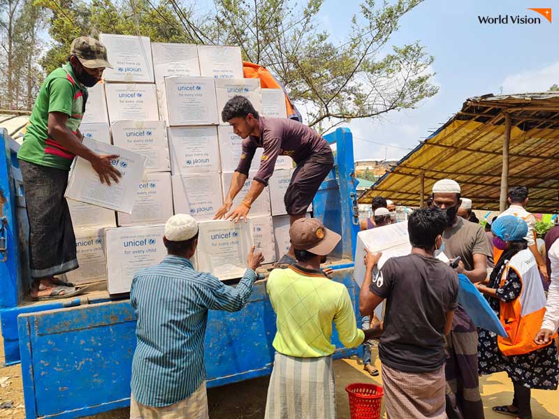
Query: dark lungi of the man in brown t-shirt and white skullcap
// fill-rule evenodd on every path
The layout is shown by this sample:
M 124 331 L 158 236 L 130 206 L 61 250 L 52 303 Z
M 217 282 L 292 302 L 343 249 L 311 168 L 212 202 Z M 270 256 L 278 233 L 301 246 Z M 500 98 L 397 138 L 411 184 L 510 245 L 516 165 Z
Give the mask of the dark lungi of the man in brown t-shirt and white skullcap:
M 477 371 L 477 328 L 465 311 L 458 309 L 444 348 L 447 353 L 447 416 L 449 419 L 484 419 Z

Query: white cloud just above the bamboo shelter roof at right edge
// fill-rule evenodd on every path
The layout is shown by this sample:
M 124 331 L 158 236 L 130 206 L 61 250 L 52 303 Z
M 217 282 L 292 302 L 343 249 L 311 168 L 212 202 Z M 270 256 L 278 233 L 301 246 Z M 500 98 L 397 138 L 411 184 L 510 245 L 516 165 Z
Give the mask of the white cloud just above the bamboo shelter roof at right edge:
M 502 82 L 502 90 L 504 94 L 547 91 L 556 83 L 559 83 L 559 61 L 547 67 L 507 76 Z

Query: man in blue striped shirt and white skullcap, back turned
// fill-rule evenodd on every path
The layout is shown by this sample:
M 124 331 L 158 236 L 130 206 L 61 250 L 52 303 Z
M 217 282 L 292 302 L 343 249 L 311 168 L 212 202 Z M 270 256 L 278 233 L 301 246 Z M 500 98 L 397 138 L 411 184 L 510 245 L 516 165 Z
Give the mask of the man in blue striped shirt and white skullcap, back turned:
M 176 214 L 165 226 L 168 256 L 140 270 L 130 300 L 136 311 L 138 345 L 132 361 L 131 419 L 208 418 L 204 335 L 208 310 L 238 311 L 247 303 L 261 253 L 249 253 L 248 268 L 236 287 L 198 272 L 190 261 L 198 245 L 198 225 Z

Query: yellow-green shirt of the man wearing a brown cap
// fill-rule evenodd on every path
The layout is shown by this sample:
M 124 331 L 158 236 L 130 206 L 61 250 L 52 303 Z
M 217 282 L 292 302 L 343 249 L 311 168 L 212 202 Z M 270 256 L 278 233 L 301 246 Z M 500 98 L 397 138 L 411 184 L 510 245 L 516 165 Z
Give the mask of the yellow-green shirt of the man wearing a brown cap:
M 270 272 L 266 291 L 277 315 L 276 351 L 298 358 L 332 355 L 332 323 L 344 346 L 363 343 L 347 288 L 298 265 Z

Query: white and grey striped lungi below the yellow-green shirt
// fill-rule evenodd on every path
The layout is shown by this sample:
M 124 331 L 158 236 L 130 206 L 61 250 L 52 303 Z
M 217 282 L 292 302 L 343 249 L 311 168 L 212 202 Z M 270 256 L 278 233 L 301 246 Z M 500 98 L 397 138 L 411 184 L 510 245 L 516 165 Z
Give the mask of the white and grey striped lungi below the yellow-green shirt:
M 331 356 L 296 358 L 275 353 L 268 386 L 266 419 L 335 419 Z

